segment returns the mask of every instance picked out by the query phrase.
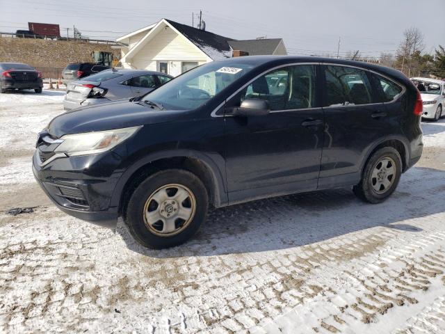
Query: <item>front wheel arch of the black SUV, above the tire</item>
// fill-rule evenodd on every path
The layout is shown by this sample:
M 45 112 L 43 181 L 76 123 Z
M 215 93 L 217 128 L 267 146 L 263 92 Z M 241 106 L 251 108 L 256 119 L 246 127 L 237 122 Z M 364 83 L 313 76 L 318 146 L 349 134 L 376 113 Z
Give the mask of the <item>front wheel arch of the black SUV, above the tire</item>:
M 218 157 L 216 157 L 218 160 Z M 220 158 L 222 159 L 222 157 Z M 209 203 L 221 207 L 228 203 L 225 189 L 224 161 L 215 162 L 211 157 L 190 150 L 175 150 L 150 154 L 132 164 L 121 175 L 111 198 L 111 207 L 118 206 L 122 214 L 136 185 L 159 170 L 179 168 L 195 174 L 209 192 Z M 221 165 L 222 164 L 222 165 Z M 220 168 L 223 166 L 223 168 Z

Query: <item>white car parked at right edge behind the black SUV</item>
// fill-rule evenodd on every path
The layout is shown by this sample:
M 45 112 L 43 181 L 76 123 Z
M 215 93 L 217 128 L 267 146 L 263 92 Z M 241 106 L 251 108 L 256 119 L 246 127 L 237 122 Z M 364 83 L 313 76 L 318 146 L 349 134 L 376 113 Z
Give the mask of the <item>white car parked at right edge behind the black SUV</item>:
M 445 116 L 445 81 L 430 78 L 411 78 L 423 101 L 423 118 L 437 121 Z

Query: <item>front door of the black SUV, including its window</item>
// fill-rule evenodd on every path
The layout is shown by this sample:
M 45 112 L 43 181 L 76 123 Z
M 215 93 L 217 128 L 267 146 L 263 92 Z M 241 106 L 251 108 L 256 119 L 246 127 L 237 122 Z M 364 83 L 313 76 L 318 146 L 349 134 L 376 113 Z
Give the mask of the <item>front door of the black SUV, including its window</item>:
M 272 109 L 266 116 L 225 117 L 229 200 L 316 189 L 323 110 L 316 107 L 315 87 L 314 65 L 286 67 L 227 102 L 227 113 L 246 98 L 267 100 Z

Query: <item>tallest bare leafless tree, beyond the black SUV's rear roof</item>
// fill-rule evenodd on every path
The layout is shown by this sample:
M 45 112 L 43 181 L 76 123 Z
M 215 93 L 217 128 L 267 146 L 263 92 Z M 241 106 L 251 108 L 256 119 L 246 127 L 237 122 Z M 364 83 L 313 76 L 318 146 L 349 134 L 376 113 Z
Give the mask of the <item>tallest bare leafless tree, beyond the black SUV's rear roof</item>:
M 403 32 L 403 41 L 397 50 L 397 57 L 398 59 L 401 59 L 402 63 L 402 72 L 405 70 L 405 72 L 407 71 L 408 76 L 410 76 L 410 73 L 414 70 L 412 67 L 415 65 L 412 63 L 412 56 L 416 53 L 420 54 L 424 47 L 423 34 L 418 28 L 412 26 Z

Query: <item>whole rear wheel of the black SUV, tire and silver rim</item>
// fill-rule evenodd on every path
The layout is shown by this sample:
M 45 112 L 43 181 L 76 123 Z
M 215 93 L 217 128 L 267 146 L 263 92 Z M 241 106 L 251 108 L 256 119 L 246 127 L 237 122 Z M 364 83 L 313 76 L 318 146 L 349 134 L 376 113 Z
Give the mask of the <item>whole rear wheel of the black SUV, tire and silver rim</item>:
M 380 148 L 364 167 L 362 180 L 353 187 L 355 195 L 370 203 L 386 200 L 396 190 L 402 173 L 402 159 L 395 148 Z

